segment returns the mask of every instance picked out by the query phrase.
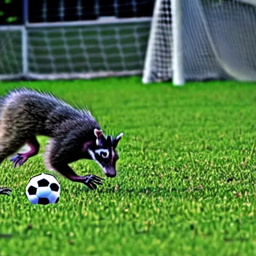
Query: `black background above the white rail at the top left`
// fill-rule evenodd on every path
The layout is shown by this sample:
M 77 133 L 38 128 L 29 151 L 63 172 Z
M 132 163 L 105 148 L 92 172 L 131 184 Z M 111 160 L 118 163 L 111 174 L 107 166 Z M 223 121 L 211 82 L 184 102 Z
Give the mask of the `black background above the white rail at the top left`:
M 114 0 L 80 0 L 80 14 L 77 14 L 78 0 L 29 0 L 28 17 L 29 22 L 52 22 L 52 21 L 73 21 L 91 20 L 100 16 L 143 17 L 152 16 L 155 0 L 117 0 L 116 15 Z M 46 12 L 43 16 L 43 3 L 46 2 Z M 60 2 L 64 4 L 64 15 L 60 16 Z M 98 2 L 98 11 L 95 3 Z M 135 2 L 135 5 L 132 4 Z M 0 24 L 22 24 L 23 13 L 22 0 L 1 0 L 0 1 Z

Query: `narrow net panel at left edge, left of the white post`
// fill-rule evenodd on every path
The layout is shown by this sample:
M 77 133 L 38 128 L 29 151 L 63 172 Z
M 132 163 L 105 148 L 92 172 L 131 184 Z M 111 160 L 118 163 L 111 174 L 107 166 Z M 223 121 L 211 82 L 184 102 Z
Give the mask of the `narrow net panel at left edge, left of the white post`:
M 21 28 L 0 27 L 0 79 L 22 74 Z

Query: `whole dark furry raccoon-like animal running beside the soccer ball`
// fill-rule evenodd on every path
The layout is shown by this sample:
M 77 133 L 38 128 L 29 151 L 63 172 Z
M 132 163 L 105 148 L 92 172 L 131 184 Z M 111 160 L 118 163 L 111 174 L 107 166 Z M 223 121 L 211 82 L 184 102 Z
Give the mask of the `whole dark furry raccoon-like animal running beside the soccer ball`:
M 104 136 L 87 109 L 75 109 L 52 94 L 27 88 L 10 91 L 0 99 L 0 163 L 25 143 L 30 150 L 12 157 L 13 166 L 22 165 L 36 155 L 39 150 L 36 135 L 50 137 L 44 153 L 48 170 L 93 190 L 102 184 L 102 178 L 92 174 L 78 176 L 68 165 L 85 158 L 97 162 L 107 177 L 115 177 L 118 159 L 115 149 L 122 132 L 116 137 Z M 10 192 L 10 188 L 0 188 L 0 194 Z

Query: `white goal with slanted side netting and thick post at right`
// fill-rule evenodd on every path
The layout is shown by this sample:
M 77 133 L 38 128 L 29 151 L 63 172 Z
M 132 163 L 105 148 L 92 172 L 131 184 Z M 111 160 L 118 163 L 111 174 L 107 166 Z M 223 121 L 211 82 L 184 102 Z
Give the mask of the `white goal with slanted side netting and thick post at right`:
M 142 81 L 255 81 L 255 31 L 255 0 L 156 0 Z

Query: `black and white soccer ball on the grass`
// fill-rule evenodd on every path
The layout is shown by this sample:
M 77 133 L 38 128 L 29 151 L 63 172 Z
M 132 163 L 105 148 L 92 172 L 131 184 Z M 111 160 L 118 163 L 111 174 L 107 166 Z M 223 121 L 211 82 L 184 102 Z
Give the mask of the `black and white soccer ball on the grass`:
M 41 173 L 30 178 L 26 186 L 26 196 L 32 204 L 57 203 L 60 185 L 51 174 Z

